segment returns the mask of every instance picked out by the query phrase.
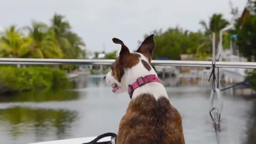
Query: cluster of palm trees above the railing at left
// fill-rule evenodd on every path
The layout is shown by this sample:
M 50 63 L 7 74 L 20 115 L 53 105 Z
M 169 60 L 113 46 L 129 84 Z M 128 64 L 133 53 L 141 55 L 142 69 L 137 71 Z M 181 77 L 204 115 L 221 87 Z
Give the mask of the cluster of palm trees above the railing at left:
M 42 22 L 32 22 L 28 36 L 15 26 L 1 34 L 0 56 L 15 58 L 69 58 L 84 59 L 86 51 L 82 38 L 71 31 L 69 22 L 62 15 L 54 14 L 51 27 Z

